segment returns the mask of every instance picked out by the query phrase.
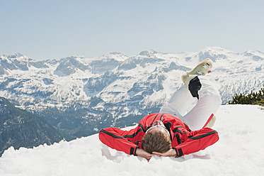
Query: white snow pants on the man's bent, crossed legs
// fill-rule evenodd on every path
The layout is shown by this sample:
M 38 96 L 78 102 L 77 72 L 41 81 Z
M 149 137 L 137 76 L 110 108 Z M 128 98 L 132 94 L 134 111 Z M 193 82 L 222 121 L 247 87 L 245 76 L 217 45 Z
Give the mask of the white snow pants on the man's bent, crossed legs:
M 202 85 L 197 92 L 199 99 L 193 97 L 188 87 L 183 84 L 160 110 L 161 113 L 176 116 L 192 131 L 203 128 L 222 102 L 210 79 L 205 76 L 197 78 Z

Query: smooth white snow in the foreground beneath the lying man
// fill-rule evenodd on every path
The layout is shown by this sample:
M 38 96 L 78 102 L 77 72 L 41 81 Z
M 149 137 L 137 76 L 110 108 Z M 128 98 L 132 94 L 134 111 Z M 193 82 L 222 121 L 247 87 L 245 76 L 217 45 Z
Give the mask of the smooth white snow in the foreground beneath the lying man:
M 148 163 L 108 148 L 96 134 L 33 149 L 9 148 L 0 158 L 0 175 L 263 175 L 263 107 L 223 105 L 216 116 L 219 141 L 181 158 L 154 157 Z

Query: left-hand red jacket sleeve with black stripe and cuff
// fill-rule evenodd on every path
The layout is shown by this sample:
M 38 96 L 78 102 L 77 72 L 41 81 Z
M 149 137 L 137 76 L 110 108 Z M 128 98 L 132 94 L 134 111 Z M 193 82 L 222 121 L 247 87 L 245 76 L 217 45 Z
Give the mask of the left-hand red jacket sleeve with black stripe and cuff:
M 110 148 L 123 151 L 129 155 L 136 155 L 137 148 L 139 147 L 124 137 L 130 133 L 134 133 L 134 131 L 137 131 L 137 128 L 130 131 L 123 131 L 120 128 L 104 128 L 99 133 L 99 139 Z

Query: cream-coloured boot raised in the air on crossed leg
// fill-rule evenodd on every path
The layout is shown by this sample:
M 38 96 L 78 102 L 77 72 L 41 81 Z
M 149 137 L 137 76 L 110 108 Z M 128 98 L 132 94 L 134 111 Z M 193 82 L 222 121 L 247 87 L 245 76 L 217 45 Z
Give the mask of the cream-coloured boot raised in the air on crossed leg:
M 200 62 L 193 70 L 186 72 L 186 74 L 181 76 L 183 83 L 188 86 L 191 79 L 200 75 L 207 75 L 211 72 L 212 69 L 212 60 L 205 59 Z

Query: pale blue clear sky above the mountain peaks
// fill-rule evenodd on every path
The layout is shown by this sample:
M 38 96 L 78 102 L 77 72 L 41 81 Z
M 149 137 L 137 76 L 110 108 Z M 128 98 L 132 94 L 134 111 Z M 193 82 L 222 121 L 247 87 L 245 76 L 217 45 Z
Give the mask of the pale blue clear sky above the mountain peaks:
M 264 52 L 264 1 L 0 0 L 0 55 Z

